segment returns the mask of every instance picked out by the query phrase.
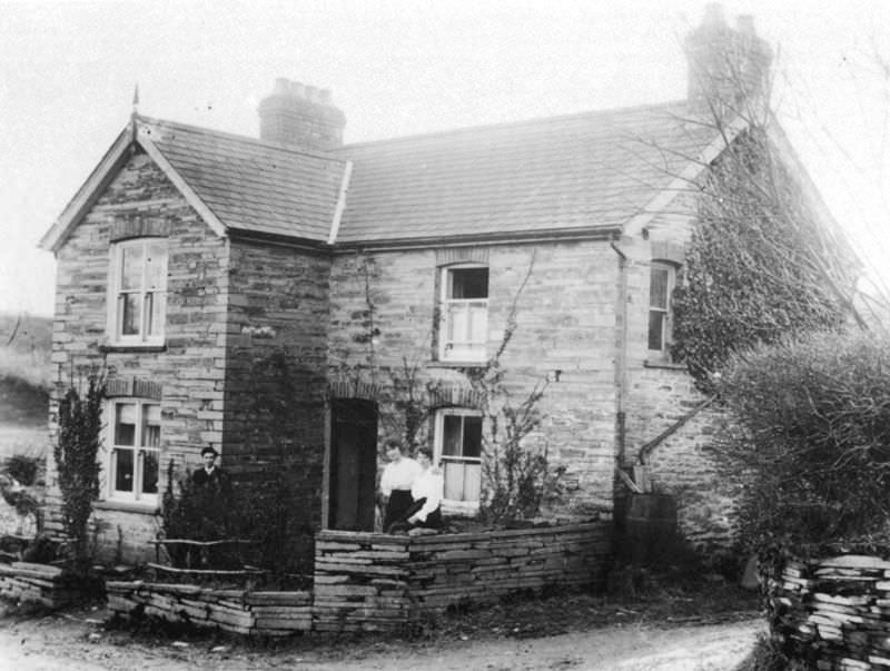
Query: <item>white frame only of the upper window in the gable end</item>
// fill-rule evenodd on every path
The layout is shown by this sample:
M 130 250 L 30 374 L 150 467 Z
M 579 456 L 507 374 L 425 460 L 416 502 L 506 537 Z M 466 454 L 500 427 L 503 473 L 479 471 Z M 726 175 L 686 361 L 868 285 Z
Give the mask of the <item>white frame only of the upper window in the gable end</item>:
M 149 284 L 149 263 L 148 250 L 151 245 L 164 247 L 164 257 L 158 269 L 159 287 L 151 290 Z M 127 249 L 139 248 L 141 251 L 140 283 L 138 288 L 123 287 L 123 263 Z M 116 240 L 109 248 L 109 269 L 108 269 L 108 315 L 106 334 L 109 343 L 121 346 L 160 346 L 164 345 L 166 336 L 167 319 L 167 273 L 168 273 L 169 247 L 167 238 L 158 236 L 145 236 Z M 137 294 L 139 296 L 139 327 L 136 334 L 123 334 L 125 309 L 121 297 L 125 294 Z M 150 302 L 147 296 L 151 296 Z M 147 325 L 151 324 L 155 333 L 149 334 Z

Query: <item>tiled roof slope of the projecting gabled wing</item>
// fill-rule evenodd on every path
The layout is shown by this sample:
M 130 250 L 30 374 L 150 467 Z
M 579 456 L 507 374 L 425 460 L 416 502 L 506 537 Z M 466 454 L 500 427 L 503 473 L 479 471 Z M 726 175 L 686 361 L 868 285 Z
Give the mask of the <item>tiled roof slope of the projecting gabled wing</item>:
M 138 132 L 227 228 L 327 241 L 344 160 L 145 117 Z

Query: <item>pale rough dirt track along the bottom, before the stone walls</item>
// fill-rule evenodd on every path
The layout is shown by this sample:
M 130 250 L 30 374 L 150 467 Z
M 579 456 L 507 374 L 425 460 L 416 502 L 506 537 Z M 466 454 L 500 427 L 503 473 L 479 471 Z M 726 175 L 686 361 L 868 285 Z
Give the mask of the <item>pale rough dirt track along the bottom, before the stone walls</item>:
M 731 671 L 763 621 L 725 583 L 650 589 L 633 598 L 554 594 L 443 618 L 398 637 L 298 637 L 247 643 L 216 634 L 105 626 L 89 608 L 0 618 L 0 669 L 313 669 Z

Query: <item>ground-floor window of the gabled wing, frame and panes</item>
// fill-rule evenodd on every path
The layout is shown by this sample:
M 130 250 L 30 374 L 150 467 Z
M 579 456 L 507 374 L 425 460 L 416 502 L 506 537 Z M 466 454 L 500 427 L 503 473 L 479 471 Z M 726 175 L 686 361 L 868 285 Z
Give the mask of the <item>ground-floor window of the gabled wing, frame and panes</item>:
M 146 401 L 111 401 L 108 411 L 109 499 L 157 504 L 160 405 Z

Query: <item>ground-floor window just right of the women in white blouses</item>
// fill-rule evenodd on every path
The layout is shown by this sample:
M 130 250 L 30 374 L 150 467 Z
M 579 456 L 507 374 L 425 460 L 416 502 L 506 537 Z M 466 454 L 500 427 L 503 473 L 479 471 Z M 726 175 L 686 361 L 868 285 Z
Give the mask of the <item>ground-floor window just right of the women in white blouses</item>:
M 445 475 L 445 500 L 478 505 L 482 487 L 482 415 L 467 408 L 436 414 L 435 461 Z

